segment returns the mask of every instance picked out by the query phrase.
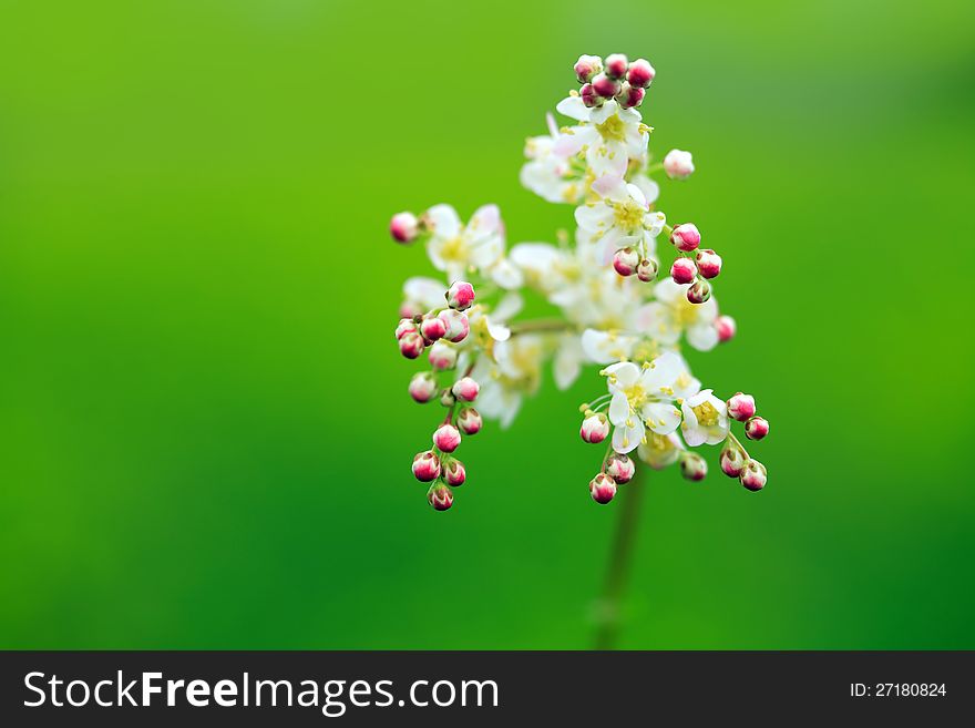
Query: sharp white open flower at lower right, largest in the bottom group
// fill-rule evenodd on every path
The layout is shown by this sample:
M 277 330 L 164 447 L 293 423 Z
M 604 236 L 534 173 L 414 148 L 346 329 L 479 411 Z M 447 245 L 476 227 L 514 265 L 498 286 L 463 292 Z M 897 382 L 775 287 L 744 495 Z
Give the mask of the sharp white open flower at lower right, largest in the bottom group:
M 673 352 L 637 367 L 630 361 L 604 369 L 612 399 L 609 421 L 613 422 L 613 449 L 635 450 L 650 430 L 670 434 L 680 424 L 680 410 L 674 406 L 671 384 L 684 371 L 684 362 Z

